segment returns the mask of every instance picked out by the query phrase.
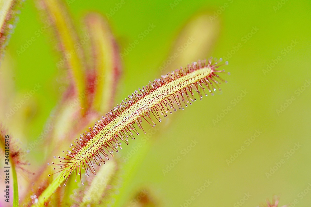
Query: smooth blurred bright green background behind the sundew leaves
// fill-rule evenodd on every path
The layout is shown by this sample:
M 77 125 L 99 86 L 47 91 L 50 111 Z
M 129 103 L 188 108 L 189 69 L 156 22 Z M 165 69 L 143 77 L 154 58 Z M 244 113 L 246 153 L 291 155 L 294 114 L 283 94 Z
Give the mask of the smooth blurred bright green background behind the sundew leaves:
M 149 80 L 159 77 L 159 66 L 168 58 L 179 31 L 199 12 L 213 14 L 225 3 L 228 5 L 217 18 L 221 22 L 220 35 L 213 49 L 197 59 L 224 58 L 233 47 L 242 45 L 224 67 L 231 75 L 222 75 L 228 83 L 222 85 L 221 95 L 218 92 L 214 97 L 204 97 L 186 110 L 178 111 L 178 119 L 172 119 L 169 129 L 157 132 L 162 133 L 161 137 L 152 142 L 150 149 L 146 148 L 146 156 L 140 163 L 132 166 L 132 175 L 124 175 L 122 182 L 129 186 L 125 193 L 131 196 L 133 189 L 147 186 L 163 206 L 187 206 L 186 200 L 191 196 L 195 199 L 190 206 L 258 206 L 273 195 L 281 197 L 281 205 L 295 199 L 298 201 L 295 206 L 311 205 L 311 191 L 301 194 L 311 182 L 311 87 L 306 87 L 302 93 L 296 91 L 301 87 L 304 89 L 306 80 L 311 77 L 311 2 L 182 0 L 172 8 L 173 0 L 124 1 L 125 4 L 109 18 L 121 52 L 147 29 L 148 24 L 153 23 L 156 27 L 124 57 L 117 103 Z M 97 11 L 105 16 L 119 2 L 76 0 L 69 4 L 69 10 L 78 24 L 87 11 Z M 278 3 L 282 7 L 275 10 Z M 55 55 L 51 33 L 43 32 L 25 52 L 19 56 L 16 53 L 42 26 L 34 2 L 26 1 L 6 52 L 6 58 L 14 63 L 10 81 L 17 92 L 23 94 L 36 83 L 42 85 L 31 99 L 36 111 L 26 125 L 29 140 L 41 133 L 61 97 L 56 87 L 58 70 L 55 64 L 59 57 Z M 253 27 L 259 30 L 245 42 L 242 38 Z M 297 42 L 295 47 L 284 53 L 292 40 Z M 267 69 L 267 64 L 273 63 L 278 56 L 281 60 L 265 74 L 263 70 Z M 240 99 L 242 90 L 248 93 Z M 286 105 L 286 100 L 292 96 L 295 100 Z M 277 113 L 284 104 L 288 107 Z M 221 114 L 228 106 L 231 110 L 226 115 Z M 222 116 L 218 123 L 213 122 L 217 115 Z M 262 133 L 248 145 L 244 141 L 250 139 L 255 130 Z M 142 149 L 147 147 L 141 138 L 138 136 L 125 147 L 120 152 L 121 157 L 139 143 L 142 143 Z M 198 144 L 183 154 L 181 151 L 192 140 Z M 294 149 L 297 143 L 301 146 Z M 226 160 L 241 147 L 245 150 L 228 165 Z M 286 155 L 288 151 L 290 155 Z M 181 160 L 164 175 L 163 169 L 177 156 L 181 156 Z M 284 160 L 281 167 L 275 167 L 281 159 Z M 267 175 L 273 167 L 275 172 Z M 210 180 L 211 184 L 198 196 L 196 190 L 205 180 Z M 251 196 L 245 197 L 245 193 Z M 118 205 L 124 202 L 120 201 Z

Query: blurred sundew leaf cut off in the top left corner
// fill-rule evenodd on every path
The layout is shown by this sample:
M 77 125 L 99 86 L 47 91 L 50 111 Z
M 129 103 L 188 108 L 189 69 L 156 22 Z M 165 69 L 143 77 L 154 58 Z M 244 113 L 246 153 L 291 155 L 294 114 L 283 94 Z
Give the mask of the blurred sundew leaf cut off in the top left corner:
M 14 27 L 16 15 L 20 12 L 20 3 L 19 0 L 0 0 L 0 58 Z

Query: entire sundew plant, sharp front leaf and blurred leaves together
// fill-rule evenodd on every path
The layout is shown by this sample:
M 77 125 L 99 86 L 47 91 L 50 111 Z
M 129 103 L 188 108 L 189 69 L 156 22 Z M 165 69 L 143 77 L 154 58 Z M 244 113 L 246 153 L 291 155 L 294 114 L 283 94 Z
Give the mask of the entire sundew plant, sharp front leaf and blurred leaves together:
M 54 49 L 64 63 L 56 64 L 60 69 L 57 84 L 65 90 L 58 105 L 51 112 L 52 118 L 45 125 L 44 131 L 47 133 L 40 151 L 44 151 L 46 156 L 42 156 L 38 169 L 31 169 L 34 176 L 30 176 L 31 173 L 21 167 L 25 162 L 21 161 L 21 150 L 16 148 L 17 144 L 10 148 L 14 182 L 13 206 L 120 206 L 138 196 L 140 199 L 134 206 L 160 206 L 161 200 L 153 196 L 152 188 L 146 188 L 147 191 L 142 188 L 141 191 L 135 189 L 136 193 L 128 195 L 125 192 L 131 190 L 130 185 L 120 183 L 121 179 L 130 180 L 135 173 L 132 166 L 141 162 L 152 142 L 157 136 L 162 136 L 170 122 L 166 122 L 161 132 L 156 133 L 147 142 L 144 150 L 133 155 L 130 161 L 121 164 L 118 155 L 109 156 L 106 162 L 104 159 L 108 159 L 108 155 L 113 155 L 113 151 L 118 151 L 118 148 L 121 149 L 121 142 L 128 144 L 129 137 L 133 139 L 138 134 L 136 128 L 144 131 L 143 128 L 148 127 L 142 120 L 154 127 L 154 119 L 161 121 L 166 114 L 191 104 L 195 100 L 194 92 L 200 98 L 205 94 L 204 90 L 213 95 L 221 82 L 216 72 L 221 71 L 216 70 L 218 65 L 212 63 L 212 60 L 197 61 L 186 68 L 175 69 L 211 52 L 219 33 L 219 22 L 211 22 L 207 13 L 198 14 L 189 20 L 180 31 L 169 54 L 174 60 L 169 58 L 159 67 L 159 73 L 165 75 L 114 107 L 122 70 L 118 45 L 108 22 L 100 14 L 89 13 L 81 21 L 82 26 L 76 25 L 63 1 L 36 0 L 36 4 L 42 18 L 51 22 Z M 1 54 L 7 44 L 10 29 L 14 28 L 14 17 L 19 13 L 16 7 L 19 5 L 19 1 L 0 1 L 3 31 L 0 37 Z M 180 52 L 179 45 L 187 43 L 189 38 L 194 41 L 188 43 L 188 47 Z M 7 60 L 2 63 L 2 68 L 8 67 L 5 61 Z M 6 74 L 0 76 L 1 84 L 6 83 L 8 71 L 5 72 Z M 12 90 L 12 87 L 8 90 Z M 8 108 L 3 100 L 12 97 L 3 89 L 0 93 L 3 97 L 3 115 Z M 18 127 L 24 128 L 23 123 L 29 121 L 34 109 L 35 103 L 27 103 L 20 116 L 2 121 L 8 128 L 14 129 L 14 123 L 18 120 Z M 98 120 L 105 113 L 107 114 Z M 174 120 L 174 116 L 169 120 Z M 92 125 L 93 128 L 89 128 Z M 85 133 L 81 135 L 83 132 Z M 6 135 L 7 132 L 1 125 L 1 142 L 5 142 Z M 19 139 L 27 142 L 23 133 L 20 133 Z M 70 149 L 65 151 L 67 146 Z M 5 150 L 4 148 L 3 151 Z M 54 155 L 57 155 L 56 159 L 53 159 Z M 99 166 L 103 163 L 104 166 Z M 29 177 L 27 179 L 30 180 L 22 181 L 23 173 L 16 176 L 15 169 L 18 168 L 24 169 Z M 48 176 L 49 174 L 52 176 Z M 17 180 L 23 182 L 23 187 L 20 185 L 19 188 L 21 199 L 18 197 Z M 76 182 L 77 180 L 81 182 Z M 64 183 L 66 187 L 63 187 Z

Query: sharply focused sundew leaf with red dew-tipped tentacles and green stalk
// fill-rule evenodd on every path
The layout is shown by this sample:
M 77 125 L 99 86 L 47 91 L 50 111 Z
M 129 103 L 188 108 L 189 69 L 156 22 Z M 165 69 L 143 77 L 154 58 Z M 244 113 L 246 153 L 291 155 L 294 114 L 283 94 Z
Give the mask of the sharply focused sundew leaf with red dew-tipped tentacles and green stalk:
M 223 64 L 212 60 L 211 58 L 208 61 L 193 62 L 186 68 L 176 69 L 162 75 L 160 79 L 150 81 L 146 87 L 139 88 L 140 93 L 135 91 L 128 96 L 128 99 L 102 116 L 92 128 L 89 128 L 89 132 L 85 131 L 74 144 L 71 144 L 70 150 L 64 152 L 66 154 L 64 157 L 58 156 L 59 161 L 52 163 L 56 170 L 53 174 L 57 176 L 39 196 L 34 206 L 43 206 L 63 182 L 66 186 L 69 176 L 74 171 L 75 181 L 78 177 L 81 180 L 81 169 L 87 176 L 90 176 L 90 173 L 95 175 L 94 165 L 105 163 L 102 155 L 108 160 L 108 153 L 113 156 L 114 151 L 118 152 L 117 148 L 121 149 L 121 141 L 128 144 L 129 137 L 135 139 L 134 134 L 139 134 L 134 124 L 143 130 L 144 119 L 154 127 L 156 124 L 151 116 L 161 121 L 162 116 L 166 117 L 172 111 L 184 109 L 184 106 L 191 105 L 196 100 L 194 92 L 197 92 L 200 99 L 202 92 L 207 96 L 205 91 L 214 95 L 216 89 L 220 90 L 218 85 L 226 81 L 217 74 L 224 71 L 217 70 Z

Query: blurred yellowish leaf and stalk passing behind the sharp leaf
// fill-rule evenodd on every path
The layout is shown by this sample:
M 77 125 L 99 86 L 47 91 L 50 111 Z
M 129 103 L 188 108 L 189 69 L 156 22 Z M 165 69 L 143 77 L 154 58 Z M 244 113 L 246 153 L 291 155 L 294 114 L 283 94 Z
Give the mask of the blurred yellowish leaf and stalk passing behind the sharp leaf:
M 197 57 L 204 57 L 212 53 L 211 51 L 214 48 L 220 31 L 220 18 L 211 21 L 209 18 L 210 15 L 211 12 L 204 9 L 204 11 L 196 13 L 195 16 L 191 17 L 191 19 L 176 32 L 178 36 L 174 40 L 169 54 L 165 55 L 165 57 L 168 56 L 168 58 L 161 62 L 158 67 L 160 75 L 168 73 L 178 68 L 180 65 L 186 65 Z M 150 152 L 154 143 L 161 139 L 161 137 L 165 137 L 171 124 L 174 123 L 174 120 L 176 120 L 179 115 L 182 115 L 182 113 L 172 114 L 169 119 L 165 120 L 165 123 L 161 124 L 161 126 L 157 126 L 158 129 L 156 130 L 158 132 L 152 134 L 152 138 L 144 144 L 139 153 L 135 153 L 130 159 L 123 163 L 122 169 L 126 171 L 126 173 L 122 174 L 124 180 L 132 180 L 132 178 L 137 175 L 138 166 L 142 164 L 142 160 L 144 160 L 148 152 Z M 155 128 L 152 128 L 150 131 L 154 129 Z M 133 169 L 132 166 L 137 167 Z M 115 206 L 126 206 L 125 201 L 128 199 L 128 192 L 132 191 L 132 188 L 130 185 L 122 185 L 118 191 L 119 193 L 114 195 Z

